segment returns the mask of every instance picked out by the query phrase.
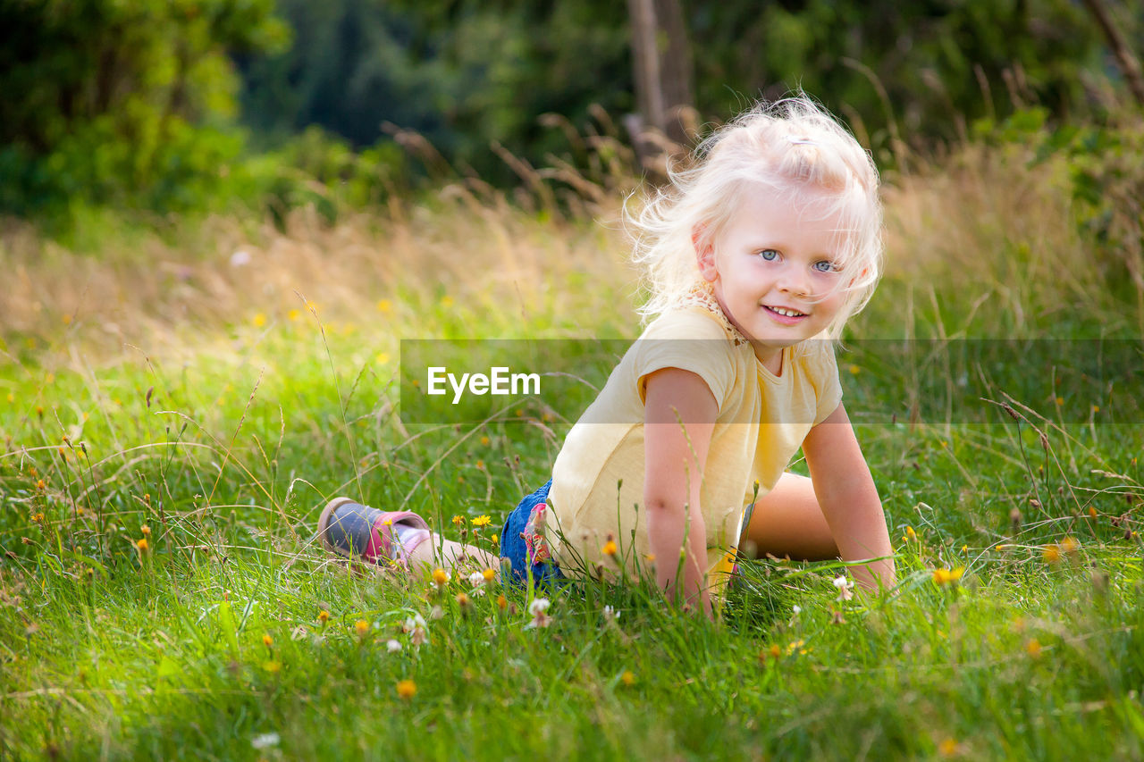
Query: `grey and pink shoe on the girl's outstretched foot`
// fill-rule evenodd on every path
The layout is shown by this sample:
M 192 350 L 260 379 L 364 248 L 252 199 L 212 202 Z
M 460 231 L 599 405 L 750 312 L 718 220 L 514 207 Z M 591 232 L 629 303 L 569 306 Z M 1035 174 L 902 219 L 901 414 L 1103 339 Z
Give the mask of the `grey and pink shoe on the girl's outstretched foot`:
M 402 543 L 397 525 L 424 530 L 408 545 Z M 412 554 L 429 538 L 429 525 L 410 510 L 384 511 L 363 506 L 350 498 L 334 498 L 318 518 L 318 537 L 329 550 L 347 558 L 364 558 L 387 565 L 407 565 Z

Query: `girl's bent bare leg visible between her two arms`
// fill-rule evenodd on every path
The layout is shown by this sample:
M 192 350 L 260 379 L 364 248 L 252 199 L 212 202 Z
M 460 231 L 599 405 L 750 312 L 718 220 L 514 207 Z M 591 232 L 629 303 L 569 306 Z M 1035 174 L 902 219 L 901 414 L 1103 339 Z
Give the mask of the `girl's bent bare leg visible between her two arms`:
M 758 499 L 747 526 L 745 550 L 754 548 L 758 557 L 768 553 L 797 561 L 827 561 L 839 557 L 831 527 L 815 497 L 809 477 L 784 473 L 779 483 Z

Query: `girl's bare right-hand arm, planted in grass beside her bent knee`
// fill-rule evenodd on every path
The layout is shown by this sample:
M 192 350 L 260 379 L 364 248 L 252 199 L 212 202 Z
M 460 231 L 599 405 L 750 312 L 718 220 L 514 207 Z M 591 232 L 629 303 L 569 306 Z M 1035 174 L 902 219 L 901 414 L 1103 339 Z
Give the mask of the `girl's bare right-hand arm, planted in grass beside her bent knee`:
M 802 452 L 810 467 L 815 497 L 842 559 L 880 558 L 853 566 L 855 579 L 867 588 L 893 587 L 893 549 L 885 529 L 885 513 L 841 404 L 810 430 L 802 443 Z

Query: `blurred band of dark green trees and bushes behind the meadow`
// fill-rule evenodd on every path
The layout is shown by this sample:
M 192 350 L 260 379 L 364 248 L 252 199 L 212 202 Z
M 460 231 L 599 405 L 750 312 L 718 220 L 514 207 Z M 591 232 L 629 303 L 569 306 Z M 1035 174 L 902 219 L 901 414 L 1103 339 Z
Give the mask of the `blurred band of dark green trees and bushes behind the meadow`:
M 0 39 L 0 214 L 63 236 L 92 207 L 332 222 L 458 177 L 654 180 L 795 87 L 887 170 L 1144 102 L 1122 0 L 2 0 Z

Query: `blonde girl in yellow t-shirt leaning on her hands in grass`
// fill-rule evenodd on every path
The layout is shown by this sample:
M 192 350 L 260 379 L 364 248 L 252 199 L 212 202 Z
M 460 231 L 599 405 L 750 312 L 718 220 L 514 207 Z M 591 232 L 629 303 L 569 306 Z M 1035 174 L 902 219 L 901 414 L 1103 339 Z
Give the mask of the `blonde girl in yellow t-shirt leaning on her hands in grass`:
M 863 586 L 892 586 L 833 344 L 881 270 L 869 156 L 804 95 L 762 104 L 707 138 L 634 222 L 653 319 L 569 432 L 551 481 L 509 515 L 514 576 L 653 570 L 660 589 L 710 616 L 741 541 L 865 562 L 851 567 Z M 800 447 L 810 478 L 784 470 Z M 454 567 L 466 555 L 498 566 L 431 539 L 414 514 L 347 498 L 329 502 L 319 534 L 374 562 L 429 565 L 436 546 Z

